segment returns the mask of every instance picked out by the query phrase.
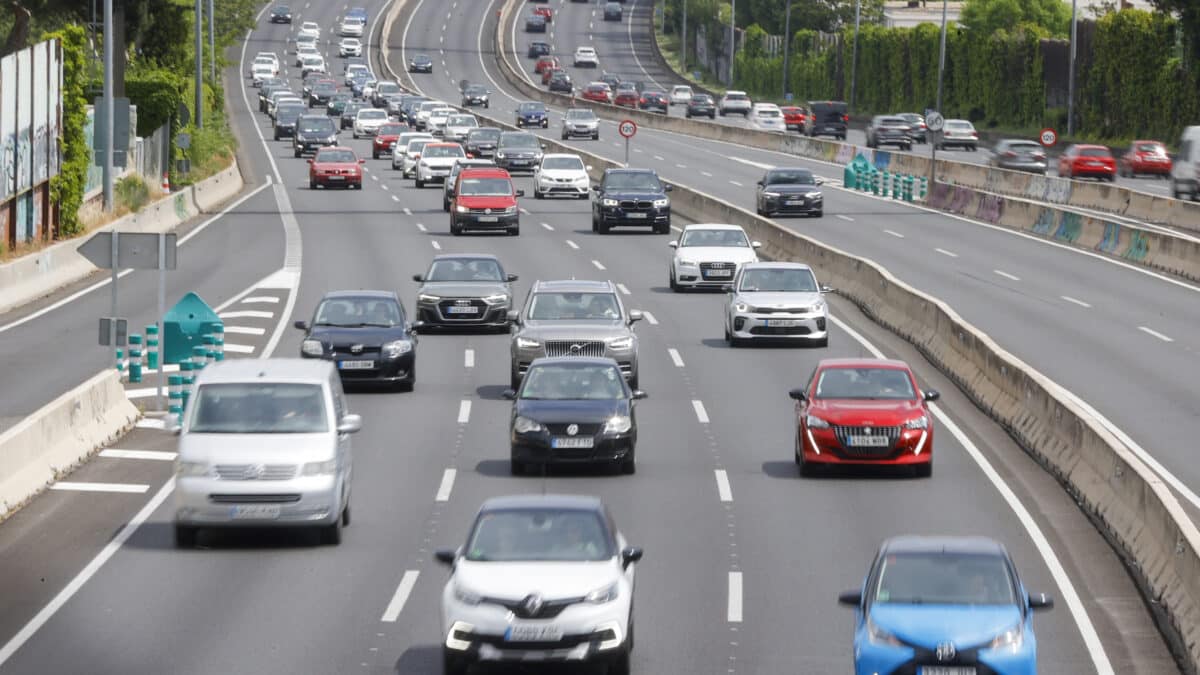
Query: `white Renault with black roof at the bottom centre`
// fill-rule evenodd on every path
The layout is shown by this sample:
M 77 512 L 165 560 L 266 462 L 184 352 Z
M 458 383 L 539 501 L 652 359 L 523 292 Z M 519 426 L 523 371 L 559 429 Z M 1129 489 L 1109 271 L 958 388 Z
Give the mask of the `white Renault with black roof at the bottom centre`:
M 445 675 L 500 661 L 587 662 L 629 674 L 642 550 L 628 545 L 599 498 L 487 500 L 466 544 L 436 557 L 450 567 L 442 591 Z

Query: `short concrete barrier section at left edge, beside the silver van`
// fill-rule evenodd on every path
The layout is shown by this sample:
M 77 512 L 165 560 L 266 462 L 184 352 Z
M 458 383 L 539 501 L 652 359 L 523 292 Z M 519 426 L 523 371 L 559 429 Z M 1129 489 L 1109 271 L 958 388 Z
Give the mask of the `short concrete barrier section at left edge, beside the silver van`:
M 0 434 L 0 520 L 138 417 L 120 375 L 106 369 Z

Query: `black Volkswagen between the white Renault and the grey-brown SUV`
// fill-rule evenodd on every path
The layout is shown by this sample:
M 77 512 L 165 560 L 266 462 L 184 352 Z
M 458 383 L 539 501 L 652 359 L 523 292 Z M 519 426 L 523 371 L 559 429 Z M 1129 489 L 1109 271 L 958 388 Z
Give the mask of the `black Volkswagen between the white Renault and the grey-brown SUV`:
M 534 359 L 512 400 L 511 471 L 550 464 L 607 464 L 634 473 L 637 416 L 646 394 L 625 383 L 617 362 L 598 357 Z

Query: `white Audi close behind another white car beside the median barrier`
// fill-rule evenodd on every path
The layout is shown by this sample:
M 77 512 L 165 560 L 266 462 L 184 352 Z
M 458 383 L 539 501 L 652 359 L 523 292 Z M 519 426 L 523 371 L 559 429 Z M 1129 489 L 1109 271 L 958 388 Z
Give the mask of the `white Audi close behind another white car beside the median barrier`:
M 668 280 L 674 292 L 688 288 L 720 288 L 733 281 L 738 269 L 758 262 L 758 247 L 737 225 L 697 223 L 683 228 L 674 249 Z

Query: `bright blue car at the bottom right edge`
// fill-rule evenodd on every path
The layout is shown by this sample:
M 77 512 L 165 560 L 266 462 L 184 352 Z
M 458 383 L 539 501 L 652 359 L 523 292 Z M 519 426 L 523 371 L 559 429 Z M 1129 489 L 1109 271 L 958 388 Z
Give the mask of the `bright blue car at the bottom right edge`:
M 857 675 L 1036 675 L 1033 611 L 1054 607 L 982 537 L 888 539 L 838 602 L 854 608 Z

